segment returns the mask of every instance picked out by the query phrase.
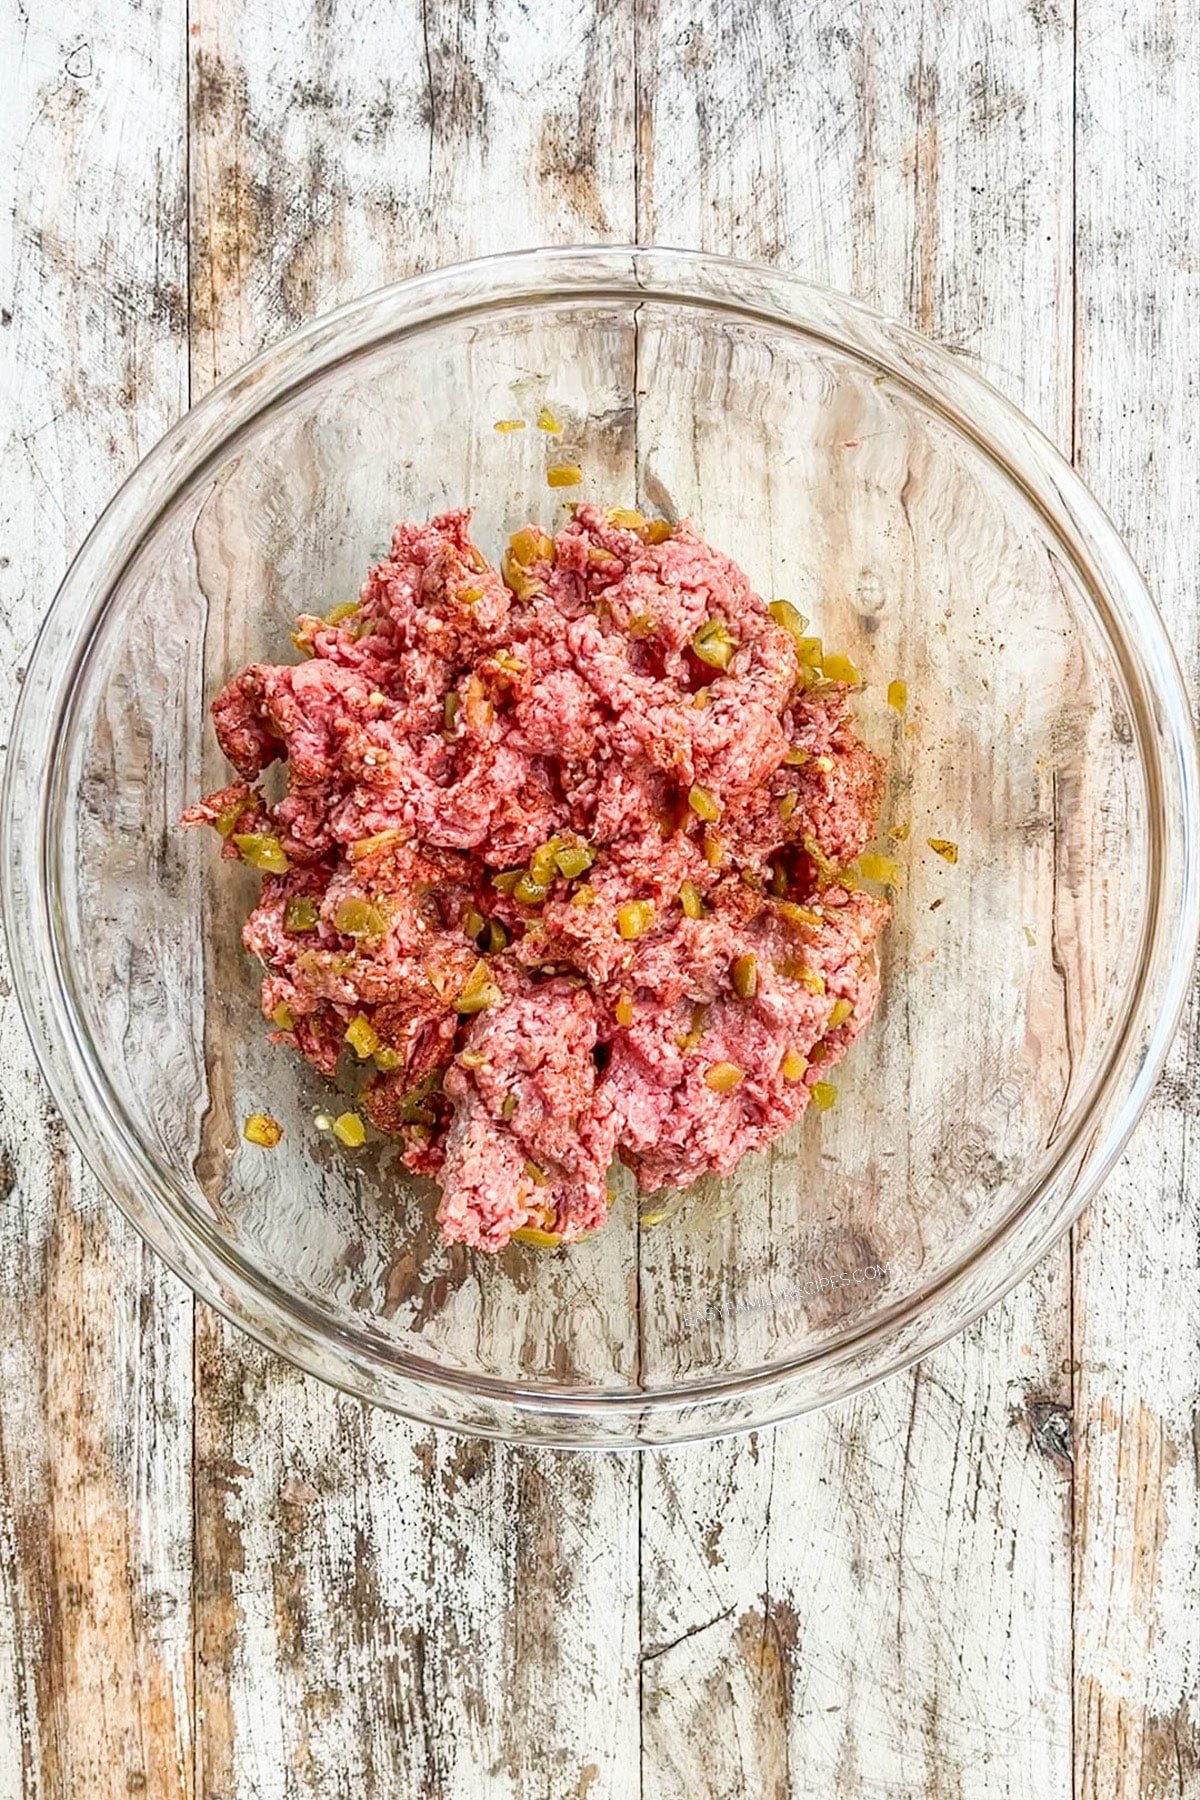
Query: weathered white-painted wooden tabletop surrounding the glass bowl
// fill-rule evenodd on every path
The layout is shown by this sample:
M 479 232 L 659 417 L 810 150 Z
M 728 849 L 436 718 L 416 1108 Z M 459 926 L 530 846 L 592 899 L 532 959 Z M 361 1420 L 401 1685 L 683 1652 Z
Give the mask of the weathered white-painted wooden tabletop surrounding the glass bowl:
M 5 0 L 0 657 L 263 342 L 453 257 L 779 261 L 1074 455 L 1200 668 L 1195 0 Z M 455 1442 L 142 1249 L 0 990 L 0 1800 L 1200 1795 L 1200 1031 L 1006 1305 L 680 1453 Z

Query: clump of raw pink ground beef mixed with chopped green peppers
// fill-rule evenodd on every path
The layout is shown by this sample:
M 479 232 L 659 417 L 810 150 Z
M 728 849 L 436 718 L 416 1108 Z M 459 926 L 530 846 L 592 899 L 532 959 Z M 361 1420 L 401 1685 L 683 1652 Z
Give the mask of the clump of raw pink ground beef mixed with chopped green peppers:
M 878 999 L 847 866 L 883 770 L 790 605 L 689 524 L 581 506 L 497 569 L 453 511 L 295 641 L 214 702 L 239 781 L 185 819 L 264 875 L 273 1040 L 371 1067 L 446 1240 L 570 1242 L 613 1157 L 685 1186 L 831 1094 Z

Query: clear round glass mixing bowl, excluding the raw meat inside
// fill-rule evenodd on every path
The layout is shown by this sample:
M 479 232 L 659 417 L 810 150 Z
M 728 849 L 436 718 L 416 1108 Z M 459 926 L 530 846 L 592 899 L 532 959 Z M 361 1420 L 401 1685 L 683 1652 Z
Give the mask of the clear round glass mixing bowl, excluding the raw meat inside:
M 495 551 L 554 518 L 565 459 L 572 499 L 691 515 L 860 666 L 903 886 L 833 1111 L 653 1226 L 626 1192 L 570 1251 L 488 1258 L 439 1244 L 394 1147 L 315 1130 L 329 1087 L 268 1046 L 239 945 L 255 877 L 178 819 L 228 779 L 216 689 L 291 659 L 293 616 L 354 594 L 394 520 L 471 502 Z M 1187 704 L 1096 500 L 912 331 L 675 250 L 439 270 L 214 389 L 63 581 L 4 832 L 38 1055 L 166 1260 L 363 1399 L 570 1445 L 765 1424 L 973 1319 L 1112 1166 L 1196 941 Z M 243 1141 L 250 1111 L 282 1121 L 277 1150 Z

